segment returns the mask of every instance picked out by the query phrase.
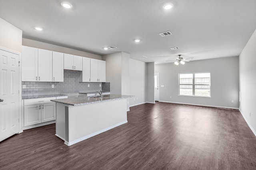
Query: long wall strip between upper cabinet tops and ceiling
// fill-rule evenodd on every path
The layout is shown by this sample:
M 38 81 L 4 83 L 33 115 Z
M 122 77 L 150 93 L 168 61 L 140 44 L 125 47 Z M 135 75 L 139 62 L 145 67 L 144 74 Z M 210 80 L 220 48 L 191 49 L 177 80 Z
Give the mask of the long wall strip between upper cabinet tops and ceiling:
M 88 58 L 92 58 L 92 59 L 98 59 L 98 60 L 102 59 L 100 55 L 87 53 L 84 51 L 79 51 L 79 50 L 70 49 L 70 48 L 66 48 L 66 47 L 61 47 L 61 46 L 53 45 L 53 44 L 49 44 L 49 43 L 43 43 L 43 42 L 35 41 L 32 39 L 22 38 L 22 45 L 29 46 L 29 47 L 35 47 L 35 48 L 39 48 L 39 49 L 50 50 L 50 51 L 57 51 L 60 53 L 78 55 L 78 56 L 88 57 Z

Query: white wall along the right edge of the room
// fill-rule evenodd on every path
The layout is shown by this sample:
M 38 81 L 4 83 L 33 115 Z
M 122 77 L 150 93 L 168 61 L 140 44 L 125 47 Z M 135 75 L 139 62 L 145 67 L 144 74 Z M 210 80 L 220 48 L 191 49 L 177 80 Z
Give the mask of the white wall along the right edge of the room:
M 256 30 L 239 56 L 239 67 L 240 112 L 256 135 Z

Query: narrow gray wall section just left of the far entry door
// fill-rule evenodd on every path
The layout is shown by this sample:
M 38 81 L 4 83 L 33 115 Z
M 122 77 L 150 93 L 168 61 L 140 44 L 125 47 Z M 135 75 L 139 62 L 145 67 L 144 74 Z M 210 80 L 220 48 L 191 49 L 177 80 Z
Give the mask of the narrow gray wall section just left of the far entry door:
M 146 102 L 148 103 L 155 103 L 154 66 L 155 63 L 146 63 Z

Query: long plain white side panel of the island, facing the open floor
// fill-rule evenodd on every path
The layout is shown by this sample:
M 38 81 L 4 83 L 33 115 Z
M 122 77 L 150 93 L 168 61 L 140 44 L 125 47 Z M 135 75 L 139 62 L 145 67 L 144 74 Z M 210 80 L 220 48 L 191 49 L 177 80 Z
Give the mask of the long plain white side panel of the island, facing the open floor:
M 68 107 L 68 145 L 127 123 L 126 101 L 119 99 Z

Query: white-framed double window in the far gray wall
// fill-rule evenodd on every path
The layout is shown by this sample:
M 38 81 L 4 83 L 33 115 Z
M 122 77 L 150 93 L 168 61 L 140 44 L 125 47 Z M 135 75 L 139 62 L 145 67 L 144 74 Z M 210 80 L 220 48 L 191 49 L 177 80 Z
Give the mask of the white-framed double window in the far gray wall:
M 179 74 L 179 95 L 210 97 L 210 72 Z

